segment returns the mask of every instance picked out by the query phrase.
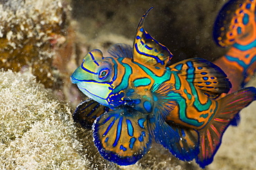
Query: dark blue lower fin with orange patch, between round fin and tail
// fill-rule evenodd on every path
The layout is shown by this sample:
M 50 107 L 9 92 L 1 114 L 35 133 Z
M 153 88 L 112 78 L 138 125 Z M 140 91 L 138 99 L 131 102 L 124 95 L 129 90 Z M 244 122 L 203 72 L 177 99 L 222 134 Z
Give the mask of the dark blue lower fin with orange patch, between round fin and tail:
M 199 154 L 199 132 L 174 123 L 156 119 L 154 128 L 156 142 L 168 149 L 176 158 L 190 161 Z

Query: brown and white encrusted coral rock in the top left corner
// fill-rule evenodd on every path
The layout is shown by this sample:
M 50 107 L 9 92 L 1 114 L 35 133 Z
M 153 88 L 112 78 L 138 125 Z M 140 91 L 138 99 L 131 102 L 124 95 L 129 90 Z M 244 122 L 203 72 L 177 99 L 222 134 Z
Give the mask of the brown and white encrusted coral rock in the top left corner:
M 30 70 L 53 87 L 59 78 L 54 47 L 66 41 L 68 6 L 60 0 L 13 0 L 1 1 L 0 11 L 0 67 Z

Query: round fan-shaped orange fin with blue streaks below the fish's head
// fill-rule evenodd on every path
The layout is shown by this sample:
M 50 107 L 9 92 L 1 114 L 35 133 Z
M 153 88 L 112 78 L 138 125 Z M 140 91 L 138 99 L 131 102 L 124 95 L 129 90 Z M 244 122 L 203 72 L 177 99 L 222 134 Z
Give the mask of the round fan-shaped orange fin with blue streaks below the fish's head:
M 148 126 L 147 114 L 127 108 L 109 111 L 93 124 L 95 146 L 111 162 L 135 164 L 152 145 Z

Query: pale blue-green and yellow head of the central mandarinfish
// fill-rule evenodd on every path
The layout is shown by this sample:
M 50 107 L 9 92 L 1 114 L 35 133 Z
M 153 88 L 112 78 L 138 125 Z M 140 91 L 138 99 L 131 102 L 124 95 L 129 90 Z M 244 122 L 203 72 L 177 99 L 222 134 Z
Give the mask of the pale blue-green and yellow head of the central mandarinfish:
M 71 81 L 89 98 L 109 106 L 107 98 L 113 91 L 111 87 L 113 67 L 104 60 L 100 50 L 92 50 L 71 75 Z

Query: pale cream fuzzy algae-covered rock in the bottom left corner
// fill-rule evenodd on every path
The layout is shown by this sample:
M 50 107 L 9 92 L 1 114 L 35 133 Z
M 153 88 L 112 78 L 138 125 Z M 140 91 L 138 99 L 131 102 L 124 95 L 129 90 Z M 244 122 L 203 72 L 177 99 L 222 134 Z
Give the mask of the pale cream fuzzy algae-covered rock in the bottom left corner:
M 0 76 L 0 169 L 87 169 L 68 106 L 30 73 Z

